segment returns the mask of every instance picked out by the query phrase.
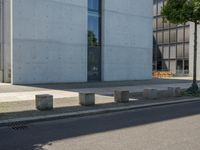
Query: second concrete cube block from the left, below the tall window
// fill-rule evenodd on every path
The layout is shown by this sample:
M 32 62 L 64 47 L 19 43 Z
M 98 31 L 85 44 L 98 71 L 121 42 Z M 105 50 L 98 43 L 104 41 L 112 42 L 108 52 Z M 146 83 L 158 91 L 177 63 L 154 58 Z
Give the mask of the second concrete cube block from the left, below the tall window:
M 79 93 L 79 104 L 82 106 L 95 105 L 95 94 L 94 93 Z

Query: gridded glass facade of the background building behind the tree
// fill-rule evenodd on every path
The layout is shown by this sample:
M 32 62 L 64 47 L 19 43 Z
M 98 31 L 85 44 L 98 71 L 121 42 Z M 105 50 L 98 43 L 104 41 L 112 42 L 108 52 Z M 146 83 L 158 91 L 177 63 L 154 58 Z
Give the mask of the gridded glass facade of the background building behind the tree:
M 153 69 L 170 71 L 177 76 L 189 74 L 189 24 L 163 21 L 165 0 L 154 0 Z

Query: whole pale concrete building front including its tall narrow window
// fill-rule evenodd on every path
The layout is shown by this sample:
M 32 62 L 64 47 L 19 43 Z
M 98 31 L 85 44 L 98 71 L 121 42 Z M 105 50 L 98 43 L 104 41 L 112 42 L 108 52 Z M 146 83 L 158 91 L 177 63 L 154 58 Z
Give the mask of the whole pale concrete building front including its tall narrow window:
M 152 7 L 151 0 L 1 0 L 0 80 L 151 79 Z

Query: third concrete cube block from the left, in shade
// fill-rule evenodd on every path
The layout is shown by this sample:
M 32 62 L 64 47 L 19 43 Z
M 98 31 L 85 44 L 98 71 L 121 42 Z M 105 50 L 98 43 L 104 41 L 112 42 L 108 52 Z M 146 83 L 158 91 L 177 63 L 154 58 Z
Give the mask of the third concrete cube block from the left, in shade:
M 115 102 L 128 103 L 129 102 L 129 91 L 115 91 L 114 97 L 115 97 Z

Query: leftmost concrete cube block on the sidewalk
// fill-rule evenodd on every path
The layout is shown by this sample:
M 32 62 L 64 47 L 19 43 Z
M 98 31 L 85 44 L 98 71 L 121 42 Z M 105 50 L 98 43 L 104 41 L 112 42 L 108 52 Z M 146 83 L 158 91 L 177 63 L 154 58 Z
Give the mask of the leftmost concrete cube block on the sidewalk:
M 36 95 L 35 104 L 37 110 L 52 110 L 53 109 L 53 95 Z

